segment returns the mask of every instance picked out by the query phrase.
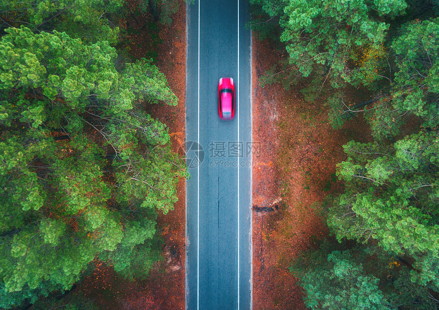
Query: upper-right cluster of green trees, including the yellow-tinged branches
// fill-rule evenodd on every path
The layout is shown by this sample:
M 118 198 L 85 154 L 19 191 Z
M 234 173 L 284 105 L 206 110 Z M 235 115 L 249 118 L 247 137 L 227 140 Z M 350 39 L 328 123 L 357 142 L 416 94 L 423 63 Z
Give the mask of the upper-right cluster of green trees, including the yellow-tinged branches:
M 282 83 L 288 88 L 300 76 L 312 76 L 303 90 L 310 101 L 327 81 L 333 88 L 364 86 L 380 100 L 353 112 L 343 102 L 342 89 L 328 99 L 329 118 L 334 127 L 340 127 L 364 111 L 377 139 L 398 135 L 410 115 L 421 118 L 426 127 L 439 124 L 437 18 L 408 21 L 389 38 L 390 25 L 398 27 L 400 22 L 394 18 L 401 20 L 405 14 L 404 0 L 255 0 L 252 4 L 261 16 L 252 21 L 253 29 L 265 34 L 271 28 L 261 19 L 278 21 L 282 29 L 278 38 L 289 55 L 265 73 L 262 85 Z M 411 1 L 410 5 L 409 18 L 434 15 L 425 13 L 431 9 L 425 3 Z

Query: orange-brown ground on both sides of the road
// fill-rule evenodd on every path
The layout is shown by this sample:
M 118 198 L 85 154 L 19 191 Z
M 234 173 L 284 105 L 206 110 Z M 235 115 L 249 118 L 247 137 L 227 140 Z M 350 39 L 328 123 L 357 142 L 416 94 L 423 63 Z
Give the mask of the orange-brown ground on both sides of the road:
M 130 54 L 155 57 L 179 98 L 177 107 L 145 109 L 168 126 L 173 149 L 181 151 L 185 139 L 185 3 L 179 0 L 172 26 L 161 27 L 158 38 L 151 36 L 148 28 L 151 14 L 139 13 L 138 0 L 128 3 L 134 16 L 127 20 Z M 253 38 L 253 140 L 261 142 L 261 152 L 254 157 L 253 206 L 271 206 L 281 199 L 273 212 L 253 211 L 254 310 L 305 308 L 303 291 L 288 267 L 299 251 L 306 251 L 329 234 L 315 202 L 342 187 L 334 175 L 335 164 L 346 158 L 342 145 L 370 135 L 362 118 L 333 130 L 322 102 L 303 99 L 303 85 L 289 91 L 280 85 L 260 87 L 259 77 L 280 57 L 269 41 Z M 177 191 L 175 210 L 158 218 L 165 259 L 154 266 L 148 279 L 127 281 L 117 277 L 111 267 L 98 264 L 79 288 L 86 296 L 107 309 L 184 309 L 184 179 Z

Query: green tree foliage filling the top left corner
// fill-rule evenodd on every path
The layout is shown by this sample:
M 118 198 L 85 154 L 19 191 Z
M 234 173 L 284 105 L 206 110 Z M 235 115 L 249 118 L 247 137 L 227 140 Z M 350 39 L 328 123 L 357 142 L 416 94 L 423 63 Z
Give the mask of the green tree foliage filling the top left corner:
M 114 24 L 123 12 L 121 0 L 11 0 L 0 3 L 4 28 L 26 25 L 33 32 L 64 31 L 87 42 L 118 42 Z

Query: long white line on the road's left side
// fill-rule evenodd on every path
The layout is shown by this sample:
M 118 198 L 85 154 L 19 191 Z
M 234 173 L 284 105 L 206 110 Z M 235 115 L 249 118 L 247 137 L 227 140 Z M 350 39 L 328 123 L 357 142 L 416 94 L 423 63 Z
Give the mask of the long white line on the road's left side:
M 200 0 L 198 0 L 198 159 L 200 160 Z M 200 308 L 200 165 L 197 167 L 197 309 Z

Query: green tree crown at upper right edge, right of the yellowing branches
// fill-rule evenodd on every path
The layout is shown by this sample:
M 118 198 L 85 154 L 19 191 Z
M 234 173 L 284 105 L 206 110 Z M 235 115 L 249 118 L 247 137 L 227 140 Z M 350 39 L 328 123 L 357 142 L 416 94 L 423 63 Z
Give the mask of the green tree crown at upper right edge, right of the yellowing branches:
M 388 92 L 364 116 L 376 139 L 395 137 L 407 117 L 419 117 L 425 127 L 439 124 L 439 19 L 405 24 L 391 45 L 394 79 Z M 392 77 L 392 76 L 391 76 Z

